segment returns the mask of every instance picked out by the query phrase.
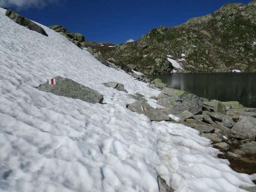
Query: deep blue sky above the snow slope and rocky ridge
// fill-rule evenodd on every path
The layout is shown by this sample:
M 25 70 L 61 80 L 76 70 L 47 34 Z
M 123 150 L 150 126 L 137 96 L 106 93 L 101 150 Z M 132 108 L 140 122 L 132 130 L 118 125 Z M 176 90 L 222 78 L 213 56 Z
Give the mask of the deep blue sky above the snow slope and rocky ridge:
M 27 18 L 60 24 L 87 40 L 123 43 L 159 25 L 175 26 L 212 13 L 228 2 L 251 0 L 0 0 Z

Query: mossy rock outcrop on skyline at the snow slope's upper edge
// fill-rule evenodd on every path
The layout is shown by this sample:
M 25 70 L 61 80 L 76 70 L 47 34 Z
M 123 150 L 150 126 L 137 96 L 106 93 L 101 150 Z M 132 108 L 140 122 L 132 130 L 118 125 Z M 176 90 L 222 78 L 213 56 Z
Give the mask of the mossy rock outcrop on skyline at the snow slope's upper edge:
M 49 28 L 65 36 L 68 40 L 76 44 L 78 47 L 85 46 L 85 38 L 82 34 L 71 33 L 68 30 L 66 30 L 63 26 L 60 26 L 60 25 L 51 25 L 49 26 Z

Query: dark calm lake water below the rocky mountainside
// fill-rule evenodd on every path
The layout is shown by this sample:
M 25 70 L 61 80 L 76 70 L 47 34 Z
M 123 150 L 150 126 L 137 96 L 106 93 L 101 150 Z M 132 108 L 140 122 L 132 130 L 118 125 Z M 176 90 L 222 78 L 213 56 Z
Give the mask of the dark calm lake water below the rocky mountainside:
M 207 99 L 239 101 L 256 108 L 256 73 L 187 73 L 150 76 L 170 88 L 180 89 Z

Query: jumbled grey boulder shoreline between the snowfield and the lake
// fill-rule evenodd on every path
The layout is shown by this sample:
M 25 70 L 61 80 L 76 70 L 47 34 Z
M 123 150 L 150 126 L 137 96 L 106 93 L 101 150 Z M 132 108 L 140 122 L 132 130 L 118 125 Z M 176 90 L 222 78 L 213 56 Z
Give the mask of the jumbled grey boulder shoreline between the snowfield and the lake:
M 173 114 L 178 117 L 177 123 L 194 128 L 210 139 L 212 147 L 222 152 L 219 158 L 228 159 L 236 172 L 256 173 L 256 108 L 247 108 L 236 101 L 199 98 L 168 88 L 159 79 L 151 81 L 149 86 L 162 89 L 154 98 L 156 103 L 165 106 L 159 109 L 161 112 Z

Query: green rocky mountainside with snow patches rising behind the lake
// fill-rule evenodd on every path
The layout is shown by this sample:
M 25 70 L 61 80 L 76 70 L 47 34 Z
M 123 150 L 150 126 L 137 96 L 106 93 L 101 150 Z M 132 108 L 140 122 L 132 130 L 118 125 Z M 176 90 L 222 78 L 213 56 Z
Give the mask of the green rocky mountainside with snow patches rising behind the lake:
M 225 4 L 178 26 L 159 26 L 134 42 L 84 40 L 82 46 L 106 65 L 144 74 L 256 72 L 256 0 Z

